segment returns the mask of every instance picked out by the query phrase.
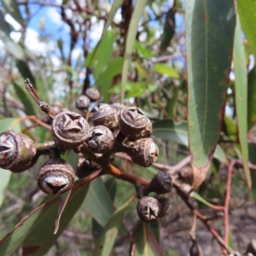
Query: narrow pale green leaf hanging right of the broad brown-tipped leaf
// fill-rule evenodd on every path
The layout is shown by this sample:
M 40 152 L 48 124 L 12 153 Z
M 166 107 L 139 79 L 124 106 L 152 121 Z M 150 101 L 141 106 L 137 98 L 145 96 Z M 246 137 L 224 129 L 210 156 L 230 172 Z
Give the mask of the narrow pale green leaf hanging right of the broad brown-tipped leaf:
M 241 24 L 239 16 L 237 16 L 234 43 L 234 64 L 236 73 L 236 115 L 243 168 L 247 178 L 248 187 L 251 188 L 252 180 L 248 168 L 247 143 L 247 61 L 241 36 Z

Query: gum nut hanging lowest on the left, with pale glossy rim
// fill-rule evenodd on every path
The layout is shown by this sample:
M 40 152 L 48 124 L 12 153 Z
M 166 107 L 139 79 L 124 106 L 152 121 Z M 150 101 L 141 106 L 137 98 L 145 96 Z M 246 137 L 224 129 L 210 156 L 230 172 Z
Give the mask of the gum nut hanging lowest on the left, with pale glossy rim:
M 61 158 L 52 158 L 38 172 L 38 187 L 49 195 L 60 195 L 73 187 L 75 173 Z

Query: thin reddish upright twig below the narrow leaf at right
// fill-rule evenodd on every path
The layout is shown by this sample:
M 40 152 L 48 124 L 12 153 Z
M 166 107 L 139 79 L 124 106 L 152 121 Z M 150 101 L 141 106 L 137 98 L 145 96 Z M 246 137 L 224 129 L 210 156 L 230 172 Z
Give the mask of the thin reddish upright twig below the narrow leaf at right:
M 230 230 L 230 217 L 229 217 L 229 205 L 230 205 L 230 189 L 231 189 L 231 177 L 235 161 L 230 162 L 227 176 L 226 185 L 226 198 L 224 203 L 224 242 L 228 244 L 229 242 L 229 230 Z

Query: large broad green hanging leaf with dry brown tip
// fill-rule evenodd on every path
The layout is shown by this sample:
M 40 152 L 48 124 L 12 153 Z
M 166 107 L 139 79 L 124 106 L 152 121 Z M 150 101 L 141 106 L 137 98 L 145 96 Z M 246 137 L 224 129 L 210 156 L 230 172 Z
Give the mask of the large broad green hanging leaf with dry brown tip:
M 203 182 L 223 121 L 236 26 L 233 0 L 186 2 L 189 149 L 193 189 Z

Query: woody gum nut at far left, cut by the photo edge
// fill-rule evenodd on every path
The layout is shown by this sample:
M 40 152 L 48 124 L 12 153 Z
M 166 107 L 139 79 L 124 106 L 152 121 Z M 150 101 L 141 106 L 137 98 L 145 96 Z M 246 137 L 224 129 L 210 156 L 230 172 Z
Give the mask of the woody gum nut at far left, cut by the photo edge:
M 11 172 L 23 172 L 37 161 L 37 148 L 32 139 L 20 132 L 0 133 L 0 167 Z

